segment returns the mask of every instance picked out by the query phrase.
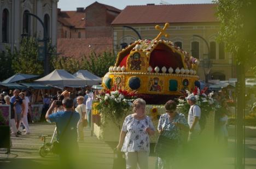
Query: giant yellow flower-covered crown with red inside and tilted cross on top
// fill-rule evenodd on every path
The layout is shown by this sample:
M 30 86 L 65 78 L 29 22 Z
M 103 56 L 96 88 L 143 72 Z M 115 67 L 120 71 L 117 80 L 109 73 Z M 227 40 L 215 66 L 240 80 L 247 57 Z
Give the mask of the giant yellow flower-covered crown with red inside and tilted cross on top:
M 182 90 L 199 87 L 196 75 L 199 60 L 174 46 L 172 41 L 160 39 L 162 35 L 168 38 L 168 26 L 168 23 L 164 28 L 156 25 L 160 33 L 155 39 L 137 40 L 121 50 L 115 65 L 103 77 L 102 86 L 136 90 L 146 100 L 150 96 L 163 98 L 163 95 L 170 99 L 170 96 L 182 95 Z

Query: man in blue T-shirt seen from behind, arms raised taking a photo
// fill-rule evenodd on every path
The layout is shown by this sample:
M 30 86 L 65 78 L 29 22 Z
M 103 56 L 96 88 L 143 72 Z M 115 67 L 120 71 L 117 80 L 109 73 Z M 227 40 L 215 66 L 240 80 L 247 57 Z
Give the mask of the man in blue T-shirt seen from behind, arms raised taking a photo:
M 59 141 L 59 155 L 61 164 L 67 168 L 73 168 L 75 155 L 78 154 L 77 123 L 80 119 L 78 112 L 73 110 L 73 100 L 64 98 L 62 105 L 64 111 L 53 113 L 57 100 L 54 100 L 46 112 L 45 118 L 55 122 L 57 127 L 57 140 Z

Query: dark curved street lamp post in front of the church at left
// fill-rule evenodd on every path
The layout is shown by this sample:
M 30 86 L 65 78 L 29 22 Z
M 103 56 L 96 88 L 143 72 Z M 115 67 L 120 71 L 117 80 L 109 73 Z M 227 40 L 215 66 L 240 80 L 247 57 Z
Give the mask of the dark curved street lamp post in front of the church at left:
M 43 41 L 44 45 L 43 45 L 43 49 L 41 51 L 40 51 L 40 47 L 39 47 L 39 55 L 42 55 L 42 54 L 44 55 L 44 76 L 46 76 L 49 74 L 49 57 L 48 57 L 48 47 L 47 47 L 48 34 L 46 32 L 46 27 L 44 25 L 44 22 L 37 15 L 31 14 L 31 13 L 24 13 L 24 14 L 35 17 L 43 26 L 44 37 L 43 37 L 43 40 L 39 40 L 39 42 Z

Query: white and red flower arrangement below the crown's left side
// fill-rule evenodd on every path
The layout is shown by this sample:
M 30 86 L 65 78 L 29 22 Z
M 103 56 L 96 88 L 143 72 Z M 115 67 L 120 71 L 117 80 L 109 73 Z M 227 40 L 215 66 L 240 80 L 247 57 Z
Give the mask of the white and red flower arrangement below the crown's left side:
M 97 95 L 99 102 L 96 108 L 104 116 L 112 119 L 120 129 L 119 121 L 127 114 L 133 100 L 136 98 L 135 91 L 128 92 L 127 90 L 115 90 L 112 88 Z

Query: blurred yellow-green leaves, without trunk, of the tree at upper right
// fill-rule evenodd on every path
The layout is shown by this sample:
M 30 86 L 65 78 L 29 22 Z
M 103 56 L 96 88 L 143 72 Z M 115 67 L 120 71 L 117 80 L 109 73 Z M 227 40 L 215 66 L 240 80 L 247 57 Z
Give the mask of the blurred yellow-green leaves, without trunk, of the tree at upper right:
M 219 0 L 217 16 L 220 21 L 219 40 L 236 57 L 237 62 L 245 62 L 246 68 L 255 72 L 256 58 L 256 1 Z M 242 53 L 242 55 L 238 55 Z

